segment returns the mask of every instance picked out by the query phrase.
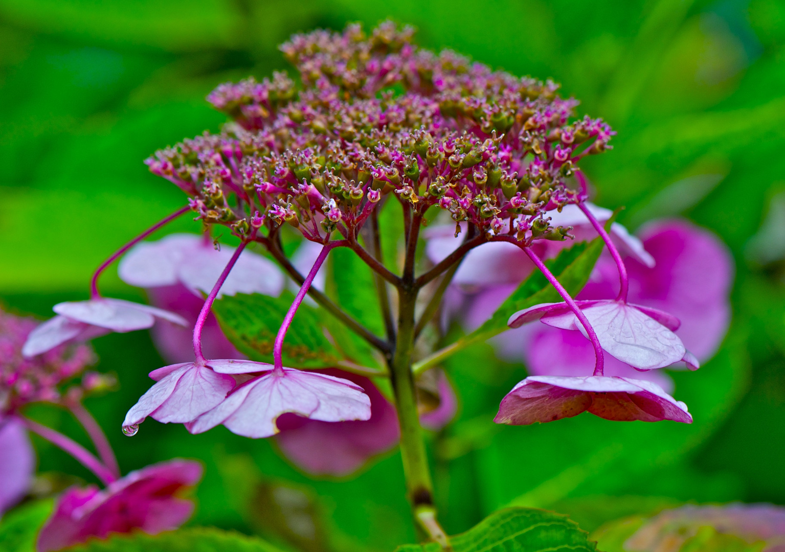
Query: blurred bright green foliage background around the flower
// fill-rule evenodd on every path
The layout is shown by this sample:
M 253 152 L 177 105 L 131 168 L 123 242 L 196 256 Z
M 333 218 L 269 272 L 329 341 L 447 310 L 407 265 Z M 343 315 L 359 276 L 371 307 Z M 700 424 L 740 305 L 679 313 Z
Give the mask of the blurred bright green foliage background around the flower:
M 699 372 L 674 374 L 692 426 L 585 415 L 497 427 L 492 413 L 523 366 L 493 360 L 484 346 L 452 359 L 461 413 L 430 437 L 448 532 L 511 501 L 573 514 L 588 529 L 645 504 L 785 503 L 781 0 L 0 0 L 0 300 L 44 317 L 57 301 L 86 298 L 108 253 L 181 205 L 181 192 L 142 160 L 219 128 L 225 117 L 204 101 L 210 89 L 285 68 L 276 45 L 295 31 L 387 16 L 416 25 L 427 47 L 561 82 L 581 113 L 619 132 L 613 151 L 586 160 L 597 202 L 625 205 L 620 220 L 631 229 L 687 216 L 736 260 L 723 347 Z M 196 227 L 181 220 L 169 231 L 188 229 Z M 141 298 L 114 271 L 103 288 Z M 222 427 L 190 436 L 148 421 L 125 438 L 122 417 L 162 361 L 146 332 L 95 347 L 120 387 L 87 405 L 122 469 L 173 456 L 206 462 L 192 523 L 315 551 L 392 550 L 414 539 L 397 453 L 349 481 L 313 482 L 270 441 Z M 35 415 L 86 442 L 62 412 Z M 40 471 L 90 479 L 36 445 Z M 299 501 L 276 499 L 276 488 Z M 608 496 L 628 498 L 600 498 Z M 291 524 L 306 517 L 315 528 L 307 535 Z

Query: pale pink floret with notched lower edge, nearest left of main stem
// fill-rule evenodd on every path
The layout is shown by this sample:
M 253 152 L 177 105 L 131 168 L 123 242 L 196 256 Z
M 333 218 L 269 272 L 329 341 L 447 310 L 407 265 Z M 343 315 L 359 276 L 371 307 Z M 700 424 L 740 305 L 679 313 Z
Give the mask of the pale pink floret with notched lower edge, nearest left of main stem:
M 284 412 L 323 422 L 371 417 L 371 400 L 356 383 L 318 372 L 283 371 L 243 383 L 220 405 L 188 424 L 188 430 L 202 433 L 223 424 L 232 433 L 263 438 L 278 433 L 276 419 Z

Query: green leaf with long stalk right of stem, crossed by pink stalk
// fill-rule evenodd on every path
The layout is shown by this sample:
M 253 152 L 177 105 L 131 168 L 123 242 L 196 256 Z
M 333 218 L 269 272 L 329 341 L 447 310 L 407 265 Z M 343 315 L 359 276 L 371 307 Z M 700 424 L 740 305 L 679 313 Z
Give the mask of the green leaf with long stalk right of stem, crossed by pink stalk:
M 564 289 L 567 289 L 571 296 L 575 296 L 589 280 L 603 245 L 601 238 L 594 238 L 589 244 L 582 241 L 560 252 L 556 259 L 547 260 L 546 267 L 558 278 L 561 285 L 564 285 Z M 463 336 L 455 343 L 417 362 L 413 369 L 415 372 L 423 372 L 473 343 L 498 336 L 507 329 L 507 320 L 517 311 L 539 303 L 557 303 L 560 300 L 558 292 L 542 272 L 534 271 L 483 325 L 468 336 Z

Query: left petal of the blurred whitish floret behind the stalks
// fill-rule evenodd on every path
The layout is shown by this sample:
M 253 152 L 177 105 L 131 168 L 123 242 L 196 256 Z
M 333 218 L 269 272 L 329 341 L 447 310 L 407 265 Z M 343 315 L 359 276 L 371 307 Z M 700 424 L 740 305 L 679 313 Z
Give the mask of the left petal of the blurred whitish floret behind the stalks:
M 140 288 L 177 284 L 177 267 L 202 241 L 196 234 L 170 234 L 159 241 L 143 241 L 120 260 L 120 279 Z

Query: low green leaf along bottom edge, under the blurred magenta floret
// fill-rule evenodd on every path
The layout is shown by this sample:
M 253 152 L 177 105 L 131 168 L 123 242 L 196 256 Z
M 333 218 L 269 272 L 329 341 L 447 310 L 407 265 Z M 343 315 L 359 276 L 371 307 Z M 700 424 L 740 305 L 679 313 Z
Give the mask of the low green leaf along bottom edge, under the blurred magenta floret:
M 69 552 L 280 552 L 257 537 L 214 528 L 189 528 L 148 535 L 135 532 L 109 539 L 90 539 Z

